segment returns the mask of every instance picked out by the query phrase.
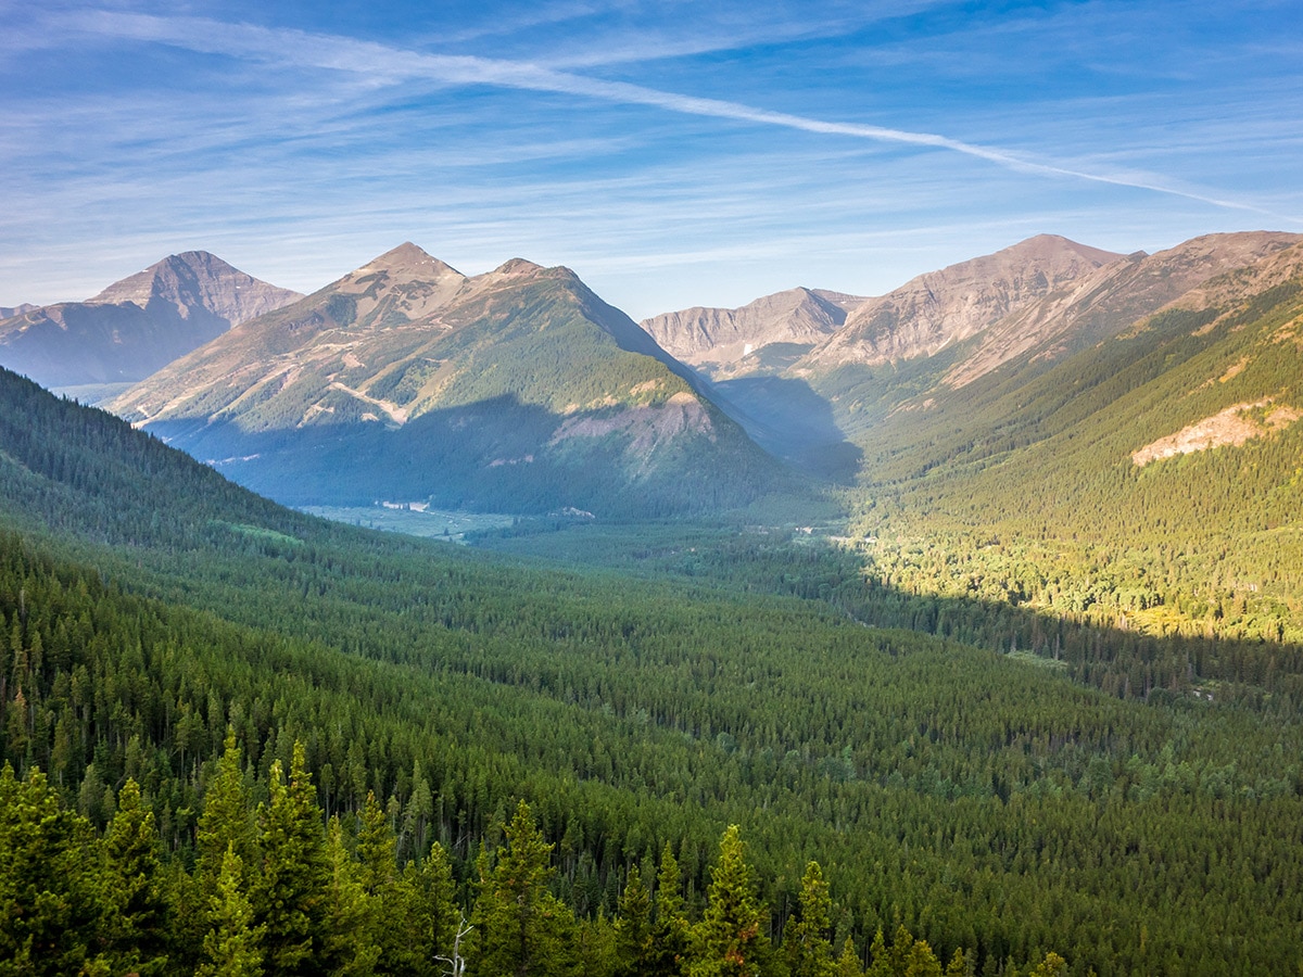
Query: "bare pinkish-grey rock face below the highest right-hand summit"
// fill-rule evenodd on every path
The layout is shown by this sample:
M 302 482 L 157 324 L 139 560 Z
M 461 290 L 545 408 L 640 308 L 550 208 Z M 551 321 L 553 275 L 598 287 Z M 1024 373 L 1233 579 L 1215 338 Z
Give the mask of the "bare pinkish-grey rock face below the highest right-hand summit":
M 860 305 L 797 369 L 809 373 L 933 356 L 1119 258 L 1065 237 L 1040 234 L 920 275 Z

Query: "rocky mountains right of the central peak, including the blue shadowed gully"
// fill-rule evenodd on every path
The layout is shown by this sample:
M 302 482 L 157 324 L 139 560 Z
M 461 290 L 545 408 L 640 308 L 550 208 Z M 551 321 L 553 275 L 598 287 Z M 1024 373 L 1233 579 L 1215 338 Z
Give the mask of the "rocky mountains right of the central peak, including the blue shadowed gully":
M 870 455 L 902 413 L 967 403 L 958 391 L 982 378 L 1031 379 L 1233 268 L 1252 267 L 1298 244 L 1296 234 L 1210 234 L 1148 255 L 1119 255 L 1042 234 L 992 255 L 920 275 L 850 307 L 844 323 L 814 344 L 783 340 L 797 328 L 788 305 L 688 310 L 644 323 L 662 335 L 684 318 L 696 324 L 693 361 L 715 376 L 715 395 L 779 456 L 816 470 L 844 468 L 848 444 Z M 691 313 L 691 315 L 689 315 Z M 804 322 L 804 315 L 796 315 Z M 711 331 L 710 323 L 749 330 Z M 718 343 L 711 345 L 711 339 Z M 713 350 L 737 350 L 727 362 Z M 1012 382 L 1015 386 L 1018 382 Z M 860 461 L 853 460 L 856 473 Z

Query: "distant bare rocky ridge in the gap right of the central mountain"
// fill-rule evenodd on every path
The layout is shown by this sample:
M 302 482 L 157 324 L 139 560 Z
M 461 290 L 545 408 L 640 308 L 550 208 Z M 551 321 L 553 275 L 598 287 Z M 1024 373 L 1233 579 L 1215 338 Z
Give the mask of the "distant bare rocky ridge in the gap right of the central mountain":
M 865 300 L 840 292 L 791 288 L 740 309 L 684 309 L 638 323 L 681 362 L 714 370 L 737 365 L 774 343 L 808 348 L 823 341 Z

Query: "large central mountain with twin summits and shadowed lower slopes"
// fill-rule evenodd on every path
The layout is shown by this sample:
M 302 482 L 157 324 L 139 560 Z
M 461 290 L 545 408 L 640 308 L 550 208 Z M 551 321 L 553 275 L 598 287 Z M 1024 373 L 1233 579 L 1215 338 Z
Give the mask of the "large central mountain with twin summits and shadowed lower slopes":
M 773 460 L 568 268 L 404 244 L 111 409 L 291 504 L 599 515 L 747 502 Z

